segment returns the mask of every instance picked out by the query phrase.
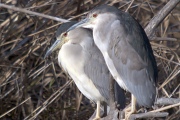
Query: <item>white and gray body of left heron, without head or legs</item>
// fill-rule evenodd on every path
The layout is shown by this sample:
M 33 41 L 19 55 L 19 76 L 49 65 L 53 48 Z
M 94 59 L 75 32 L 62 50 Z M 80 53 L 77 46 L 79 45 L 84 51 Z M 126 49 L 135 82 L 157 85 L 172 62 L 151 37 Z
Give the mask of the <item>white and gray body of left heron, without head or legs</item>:
M 95 101 L 97 99 L 102 100 L 103 97 L 106 102 L 109 102 L 111 74 L 102 53 L 94 44 L 92 35 L 88 34 L 90 31 L 87 29 L 83 29 L 83 31 L 86 31 L 86 34 L 83 34 L 86 39 L 83 39 L 80 43 L 67 42 L 62 46 L 58 56 L 59 63 L 87 98 Z M 115 94 L 116 101 L 123 109 L 125 107 L 124 91 L 119 86 L 115 86 Z

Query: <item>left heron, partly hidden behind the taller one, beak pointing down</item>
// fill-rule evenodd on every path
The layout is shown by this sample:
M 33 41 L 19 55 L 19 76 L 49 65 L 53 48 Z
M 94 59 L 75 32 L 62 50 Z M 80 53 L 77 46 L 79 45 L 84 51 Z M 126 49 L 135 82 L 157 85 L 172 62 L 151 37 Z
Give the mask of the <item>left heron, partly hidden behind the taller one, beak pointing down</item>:
M 100 102 L 110 102 L 110 72 L 104 58 L 94 44 L 92 31 L 85 28 L 66 30 L 77 22 L 64 23 L 57 31 L 57 40 L 47 51 L 61 48 L 58 62 L 72 77 L 76 86 L 88 99 L 97 103 L 96 118 L 100 118 Z M 125 107 L 124 91 L 115 83 L 115 100 Z

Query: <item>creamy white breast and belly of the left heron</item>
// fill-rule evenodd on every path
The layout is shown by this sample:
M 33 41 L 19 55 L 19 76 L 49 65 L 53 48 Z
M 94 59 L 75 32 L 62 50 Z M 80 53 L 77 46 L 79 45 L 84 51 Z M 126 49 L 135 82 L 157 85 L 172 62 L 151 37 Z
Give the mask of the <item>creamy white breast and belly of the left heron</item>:
M 74 80 L 78 89 L 87 98 L 97 101 L 104 101 L 105 98 L 93 84 L 92 80 L 84 73 L 85 55 L 80 45 L 73 46 L 64 44 L 59 52 L 58 61 Z

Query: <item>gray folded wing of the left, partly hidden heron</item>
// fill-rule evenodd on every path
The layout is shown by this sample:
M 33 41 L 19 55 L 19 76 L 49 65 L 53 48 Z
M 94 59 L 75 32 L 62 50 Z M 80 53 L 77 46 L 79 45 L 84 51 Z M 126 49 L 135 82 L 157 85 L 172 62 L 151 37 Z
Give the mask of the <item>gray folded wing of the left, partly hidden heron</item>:
M 90 49 L 85 50 L 87 59 L 84 72 L 92 80 L 101 95 L 109 101 L 110 73 L 99 49 L 94 43 L 91 45 Z

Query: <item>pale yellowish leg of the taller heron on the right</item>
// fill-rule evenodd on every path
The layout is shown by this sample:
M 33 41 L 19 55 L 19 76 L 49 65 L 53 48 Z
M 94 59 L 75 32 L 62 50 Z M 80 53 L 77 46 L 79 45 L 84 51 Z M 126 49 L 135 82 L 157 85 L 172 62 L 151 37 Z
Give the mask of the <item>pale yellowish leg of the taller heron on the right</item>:
M 127 108 L 128 109 L 128 108 Z M 136 98 L 131 94 L 131 110 L 126 110 L 125 119 L 128 120 L 130 115 L 136 112 Z

